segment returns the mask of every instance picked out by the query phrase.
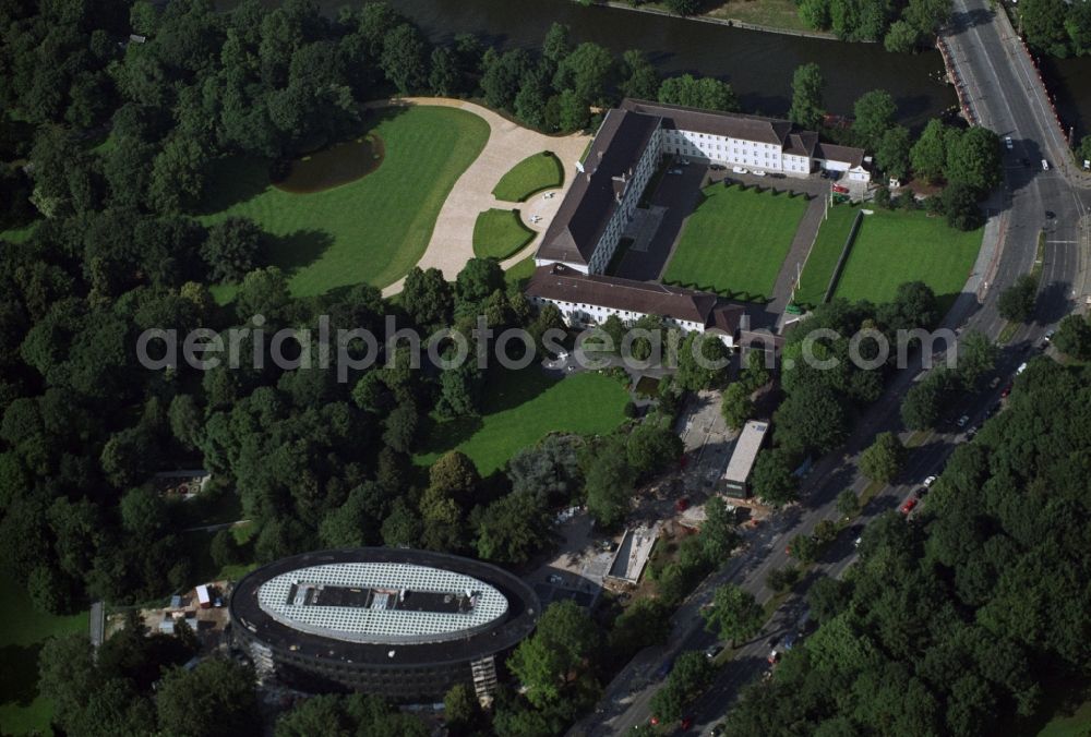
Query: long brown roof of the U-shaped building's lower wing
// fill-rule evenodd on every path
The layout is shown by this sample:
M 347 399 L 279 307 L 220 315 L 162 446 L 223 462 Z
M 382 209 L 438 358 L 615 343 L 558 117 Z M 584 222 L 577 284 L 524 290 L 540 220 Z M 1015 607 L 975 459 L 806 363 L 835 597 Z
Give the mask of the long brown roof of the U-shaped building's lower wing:
M 563 264 L 535 269 L 527 285 L 528 297 L 574 304 L 592 304 L 647 315 L 717 327 L 734 335 L 743 307 L 720 304 L 716 294 L 654 281 L 634 281 L 601 275 L 585 275 Z

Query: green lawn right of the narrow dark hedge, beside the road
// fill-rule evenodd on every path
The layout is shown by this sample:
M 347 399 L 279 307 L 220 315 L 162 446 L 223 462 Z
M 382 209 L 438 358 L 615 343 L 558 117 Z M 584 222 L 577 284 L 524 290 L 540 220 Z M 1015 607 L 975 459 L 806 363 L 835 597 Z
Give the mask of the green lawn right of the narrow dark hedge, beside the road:
M 923 281 L 949 309 L 973 269 L 981 237 L 981 230 L 955 230 L 923 210 L 877 209 L 864 216 L 835 294 L 886 302 L 898 285 Z

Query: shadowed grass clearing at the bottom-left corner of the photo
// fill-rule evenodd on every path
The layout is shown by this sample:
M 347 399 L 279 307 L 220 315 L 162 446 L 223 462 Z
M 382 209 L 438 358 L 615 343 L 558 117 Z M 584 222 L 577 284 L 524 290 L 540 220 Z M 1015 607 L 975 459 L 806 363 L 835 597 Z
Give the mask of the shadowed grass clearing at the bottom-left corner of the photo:
M 52 704 L 38 696 L 38 651 L 53 635 L 88 635 L 87 613 L 70 617 L 40 614 L 31 597 L 0 575 L 0 726 L 4 734 L 48 734 Z

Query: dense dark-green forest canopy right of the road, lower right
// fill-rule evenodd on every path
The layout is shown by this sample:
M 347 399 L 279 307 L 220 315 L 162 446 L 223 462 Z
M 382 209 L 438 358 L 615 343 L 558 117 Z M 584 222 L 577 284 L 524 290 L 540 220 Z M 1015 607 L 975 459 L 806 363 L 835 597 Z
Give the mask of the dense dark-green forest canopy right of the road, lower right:
M 818 630 L 746 691 L 726 734 L 836 723 L 838 734 L 970 736 L 1041 723 L 1046 689 L 1072 682 L 1056 675 L 1088 668 L 1074 647 L 1088 616 L 1077 582 L 1091 566 L 1079 521 L 1087 385 L 1083 367 L 1032 361 L 1007 408 L 956 449 L 921 517 L 876 520 L 844 579 L 812 588 Z

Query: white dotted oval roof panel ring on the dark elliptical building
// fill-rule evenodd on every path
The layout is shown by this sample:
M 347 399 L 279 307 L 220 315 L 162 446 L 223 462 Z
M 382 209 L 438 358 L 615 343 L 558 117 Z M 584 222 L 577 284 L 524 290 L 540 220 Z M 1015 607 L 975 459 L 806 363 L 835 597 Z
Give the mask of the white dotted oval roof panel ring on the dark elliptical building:
M 407 590 L 473 595 L 468 612 L 412 612 L 380 606 L 315 606 L 292 587 Z M 257 604 L 271 617 L 300 631 L 349 642 L 376 644 L 442 642 L 485 628 L 507 612 L 507 599 L 494 587 L 441 568 L 399 563 L 337 563 L 281 573 L 257 589 Z

